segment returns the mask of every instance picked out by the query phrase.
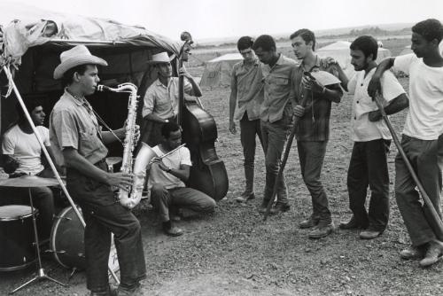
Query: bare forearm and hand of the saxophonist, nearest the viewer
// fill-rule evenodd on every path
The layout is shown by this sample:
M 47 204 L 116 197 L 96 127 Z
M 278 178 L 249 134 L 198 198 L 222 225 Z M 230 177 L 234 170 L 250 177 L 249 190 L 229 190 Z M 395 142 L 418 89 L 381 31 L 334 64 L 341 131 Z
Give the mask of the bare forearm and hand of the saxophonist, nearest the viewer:
M 126 173 L 107 173 L 94 166 L 73 147 L 66 147 L 63 150 L 66 167 L 73 167 L 83 175 L 87 175 L 100 183 L 117 186 L 126 190 L 132 184 L 132 175 Z

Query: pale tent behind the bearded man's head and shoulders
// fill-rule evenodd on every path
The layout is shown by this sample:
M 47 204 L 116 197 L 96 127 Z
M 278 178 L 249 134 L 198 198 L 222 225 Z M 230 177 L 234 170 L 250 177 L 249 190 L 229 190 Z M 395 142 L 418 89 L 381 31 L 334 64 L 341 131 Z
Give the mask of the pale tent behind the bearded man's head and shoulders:
M 320 58 L 331 57 L 335 58 L 348 78 L 351 78 L 355 71 L 354 66 L 351 65 L 351 55 L 349 46 L 350 42 L 338 41 L 324 46 L 317 50 L 316 53 Z M 377 62 L 380 62 L 383 58 L 391 57 L 391 51 L 385 48 L 378 48 Z

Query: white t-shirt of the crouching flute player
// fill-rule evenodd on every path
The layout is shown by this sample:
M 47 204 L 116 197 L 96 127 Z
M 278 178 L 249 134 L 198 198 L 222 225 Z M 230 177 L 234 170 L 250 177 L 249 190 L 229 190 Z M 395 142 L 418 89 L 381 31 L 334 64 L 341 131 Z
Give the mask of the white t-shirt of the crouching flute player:
M 153 147 L 152 150 L 159 157 L 165 154 L 161 152 L 161 150 L 159 149 L 159 145 Z M 190 162 L 190 151 L 186 147 L 182 147 L 174 153 L 167 155 L 162 160 L 165 166 L 174 169 L 179 169 L 181 165 L 192 166 L 192 163 Z M 152 166 L 150 167 L 148 190 L 151 190 L 153 183 L 160 183 L 165 186 L 166 189 L 185 187 L 185 184 L 182 182 L 182 180 L 177 178 L 175 175 L 165 172 L 155 163 L 152 164 Z

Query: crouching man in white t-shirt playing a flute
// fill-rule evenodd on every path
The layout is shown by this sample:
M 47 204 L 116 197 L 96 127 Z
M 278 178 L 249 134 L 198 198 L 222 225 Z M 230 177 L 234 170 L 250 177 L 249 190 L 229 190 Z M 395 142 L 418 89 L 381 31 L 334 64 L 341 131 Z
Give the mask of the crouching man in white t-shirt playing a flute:
M 158 156 L 171 152 L 182 144 L 182 130 L 175 122 L 161 127 L 163 142 L 152 149 Z M 154 158 L 150 167 L 148 189 L 151 191 L 152 206 L 159 213 L 163 231 L 169 236 L 181 236 L 183 230 L 171 223 L 169 212 L 183 208 L 189 212 L 214 212 L 215 201 L 201 191 L 186 187 L 190 177 L 190 151 L 182 147 L 159 159 Z

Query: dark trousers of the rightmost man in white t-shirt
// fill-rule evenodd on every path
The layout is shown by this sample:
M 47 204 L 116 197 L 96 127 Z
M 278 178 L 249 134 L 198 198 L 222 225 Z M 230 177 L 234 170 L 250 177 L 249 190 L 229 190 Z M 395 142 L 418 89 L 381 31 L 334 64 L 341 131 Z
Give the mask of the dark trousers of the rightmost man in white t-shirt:
M 438 153 L 438 141 L 419 140 L 403 135 L 401 147 L 441 217 L 441 170 L 438 163 L 438 154 L 441 152 Z M 416 183 L 400 154 L 395 158 L 395 199 L 412 245 L 423 245 L 436 238 L 429 208 L 421 201 Z

